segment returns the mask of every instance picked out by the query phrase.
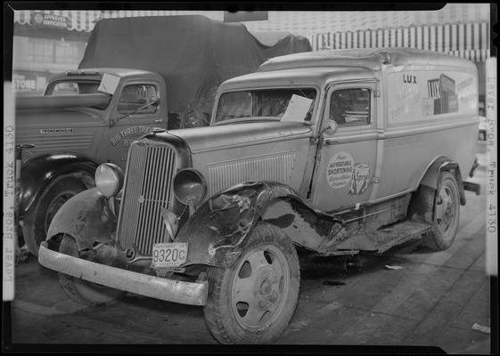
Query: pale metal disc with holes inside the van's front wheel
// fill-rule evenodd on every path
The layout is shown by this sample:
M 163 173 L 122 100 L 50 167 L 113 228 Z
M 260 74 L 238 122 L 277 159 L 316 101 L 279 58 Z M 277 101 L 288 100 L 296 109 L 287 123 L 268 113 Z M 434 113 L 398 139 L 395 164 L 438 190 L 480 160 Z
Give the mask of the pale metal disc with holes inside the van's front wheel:
M 234 274 L 232 309 L 244 328 L 263 328 L 281 314 L 288 294 L 290 269 L 274 246 L 256 247 L 241 259 Z

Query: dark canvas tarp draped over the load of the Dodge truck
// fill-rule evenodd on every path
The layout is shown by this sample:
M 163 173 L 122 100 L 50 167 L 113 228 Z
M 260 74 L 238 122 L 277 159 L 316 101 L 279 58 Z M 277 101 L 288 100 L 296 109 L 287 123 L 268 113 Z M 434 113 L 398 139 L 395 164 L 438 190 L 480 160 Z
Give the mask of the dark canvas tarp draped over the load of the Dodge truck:
M 97 22 L 78 68 L 152 70 L 166 81 L 169 112 L 209 113 L 226 79 L 278 55 L 311 51 L 305 37 L 285 34 L 272 42 L 259 42 L 242 24 L 200 15 L 107 19 Z

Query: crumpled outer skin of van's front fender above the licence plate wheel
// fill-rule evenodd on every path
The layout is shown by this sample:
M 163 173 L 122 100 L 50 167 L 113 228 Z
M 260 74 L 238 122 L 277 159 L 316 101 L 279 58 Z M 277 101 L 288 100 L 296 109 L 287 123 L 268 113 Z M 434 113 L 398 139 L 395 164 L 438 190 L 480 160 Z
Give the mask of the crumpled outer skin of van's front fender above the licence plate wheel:
M 242 247 L 258 219 L 276 198 L 292 198 L 317 211 L 289 186 L 278 182 L 245 182 L 205 201 L 184 223 L 176 242 L 187 242 L 186 263 L 227 267 L 242 254 Z M 340 220 L 340 219 L 339 219 Z

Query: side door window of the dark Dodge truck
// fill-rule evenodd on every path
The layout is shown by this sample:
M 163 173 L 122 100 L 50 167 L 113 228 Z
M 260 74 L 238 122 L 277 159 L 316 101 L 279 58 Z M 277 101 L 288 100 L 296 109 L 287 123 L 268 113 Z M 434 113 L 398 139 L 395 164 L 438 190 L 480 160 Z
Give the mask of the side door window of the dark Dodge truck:
M 120 114 L 129 114 L 144 107 L 147 103 L 155 101 L 157 97 L 158 93 L 154 85 L 127 85 L 121 91 L 118 111 Z M 156 109 L 156 105 L 148 105 L 137 114 L 152 114 L 156 112 Z

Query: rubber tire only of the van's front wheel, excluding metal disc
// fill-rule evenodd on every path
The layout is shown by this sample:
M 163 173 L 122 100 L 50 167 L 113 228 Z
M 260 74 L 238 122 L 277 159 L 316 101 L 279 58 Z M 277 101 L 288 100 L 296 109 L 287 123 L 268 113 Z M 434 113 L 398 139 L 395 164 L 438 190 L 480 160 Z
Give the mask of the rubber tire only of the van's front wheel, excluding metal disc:
M 291 239 L 275 225 L 258 223 L 243 247 L 242 255 L 233 264 L 239 266 L 251 249 L 262 246 L 277 247 L 286 259 L 290 271 L 289 293 L 285 295 L 281 314 L 266 328 L 248 330 L 235 320 L 231 307 L 232 281 L 235 268 L 209 267 L 209 298 L 204 307 L 205 320 L 211 334 L 222 344 L 268 344 L 274 342 L 290 323 L 299 299 L 300 269 L 297 251 Z

